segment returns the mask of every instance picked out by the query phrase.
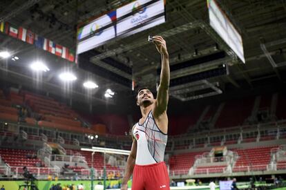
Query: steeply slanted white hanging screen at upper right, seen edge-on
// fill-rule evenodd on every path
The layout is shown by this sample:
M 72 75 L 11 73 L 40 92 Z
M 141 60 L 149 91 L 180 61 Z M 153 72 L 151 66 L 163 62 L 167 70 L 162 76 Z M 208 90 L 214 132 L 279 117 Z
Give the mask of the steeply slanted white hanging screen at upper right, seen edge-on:
M 236 28 L 233 27 L 227 16 L 218 7 L 215 0 L 207 0 L 209 7 L 209 22 L 218 35 L 229 45 L 234 53 L 245 63 L 242 38 Z

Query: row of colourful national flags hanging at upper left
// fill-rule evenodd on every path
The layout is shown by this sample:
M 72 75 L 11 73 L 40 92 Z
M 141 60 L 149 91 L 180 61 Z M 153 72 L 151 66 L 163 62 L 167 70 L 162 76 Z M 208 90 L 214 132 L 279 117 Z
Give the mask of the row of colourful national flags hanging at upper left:
M 31 30 L 27 30 L 23 27 L 13 26 L 8 22 L 0 23 L 0 31 L 6 33 L 10 37 L 15 37 L 21 41 L 25 41 L 28 44 L 33 44 L 37 48 L 48 51 L 54 55 L 57 55 L 63 59 L 68 59 L 68 61 L 75 61 L 75 51 L 70 50 L 59 44 L 55 44 L 54 41 L 41 37 Z

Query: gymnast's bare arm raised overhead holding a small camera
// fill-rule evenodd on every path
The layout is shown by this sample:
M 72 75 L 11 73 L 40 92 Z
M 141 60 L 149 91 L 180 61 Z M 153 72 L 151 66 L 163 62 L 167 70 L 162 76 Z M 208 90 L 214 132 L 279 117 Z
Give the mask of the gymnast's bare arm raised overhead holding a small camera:
M 161 54 L 162 66 L 160 74 L 160 84 L 158 86 L 157 102 L 155 104 L 155 112 L 162 115 L 167 109 L 169 101 L 169 84 L 170 84 L 170 66 L 169 53 L 166 48 L 166 41 L 160 36 L 154 36 L 153 42 Z

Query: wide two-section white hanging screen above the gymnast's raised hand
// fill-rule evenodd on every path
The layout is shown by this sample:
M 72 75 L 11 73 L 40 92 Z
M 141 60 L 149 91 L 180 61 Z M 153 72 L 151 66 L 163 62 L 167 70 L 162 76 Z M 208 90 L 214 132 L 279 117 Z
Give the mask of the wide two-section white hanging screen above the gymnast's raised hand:
M 77 54 L 115 37 L 133 35 L 165 21 L 164 0 L 133 1 L 78 28 Z

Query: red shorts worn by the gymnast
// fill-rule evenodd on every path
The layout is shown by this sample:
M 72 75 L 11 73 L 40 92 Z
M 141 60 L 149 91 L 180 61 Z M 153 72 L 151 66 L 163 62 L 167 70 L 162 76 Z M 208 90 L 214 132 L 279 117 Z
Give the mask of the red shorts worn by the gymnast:
M 169 183 L 165 162 L 149 165 L 135 164 L 132 190 L 169 190 Z

